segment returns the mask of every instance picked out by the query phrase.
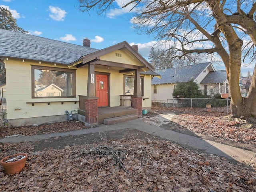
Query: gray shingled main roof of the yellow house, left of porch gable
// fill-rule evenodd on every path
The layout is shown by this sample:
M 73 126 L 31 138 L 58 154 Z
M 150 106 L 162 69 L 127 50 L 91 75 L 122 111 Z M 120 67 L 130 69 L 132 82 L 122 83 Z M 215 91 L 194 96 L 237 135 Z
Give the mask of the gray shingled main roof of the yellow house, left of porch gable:
M 98 49 L 0 29 L 0 57 L 70 64 L 96 51 Z

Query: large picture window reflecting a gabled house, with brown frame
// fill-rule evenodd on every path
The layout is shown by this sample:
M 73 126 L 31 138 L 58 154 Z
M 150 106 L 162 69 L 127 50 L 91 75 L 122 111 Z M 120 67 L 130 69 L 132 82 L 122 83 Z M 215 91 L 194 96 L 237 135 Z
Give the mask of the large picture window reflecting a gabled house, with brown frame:
M 32 98 L 74 97 L 73 69 L 32 66 Z

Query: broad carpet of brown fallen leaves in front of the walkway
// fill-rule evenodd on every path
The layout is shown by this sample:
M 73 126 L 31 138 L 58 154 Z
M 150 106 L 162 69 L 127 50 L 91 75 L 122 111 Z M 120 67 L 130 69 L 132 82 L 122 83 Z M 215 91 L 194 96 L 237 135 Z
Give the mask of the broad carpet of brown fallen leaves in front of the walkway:
M 135 136 L 30 153 L 19 174 L 0 171 L 2 191 L 255 191 L 255 181 L 225 158 Z

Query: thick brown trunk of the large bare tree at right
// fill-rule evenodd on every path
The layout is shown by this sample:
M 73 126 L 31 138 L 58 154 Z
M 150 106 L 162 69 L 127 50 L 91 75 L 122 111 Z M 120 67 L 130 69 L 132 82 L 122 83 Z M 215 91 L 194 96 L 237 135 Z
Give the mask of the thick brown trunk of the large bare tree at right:
M 224 34 L 229 48 L 229 63 L 222 58 L 227 74 L 230 90 L 230 108 L 231 113 L 236 118 L 244 118 L 256 122 L 256 70 L 252 77 L 252 84 L 247 98 L 243 98 L 239 87 L 239 76 L 242 64 L 242 45 L 243 41 L 238 38 L 234 28 L 223 13 L 221 6 L 218 6 L 218 0 L 206 0 L 209 8 L 212 9 L 213 17 L 220 31 Z

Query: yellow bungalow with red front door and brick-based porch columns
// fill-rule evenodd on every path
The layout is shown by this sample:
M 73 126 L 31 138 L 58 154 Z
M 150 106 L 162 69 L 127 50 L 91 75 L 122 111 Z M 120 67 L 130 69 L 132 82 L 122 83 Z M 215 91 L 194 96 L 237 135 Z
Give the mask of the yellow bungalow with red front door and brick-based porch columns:
M 80 46 L 0 29 L 0 47 L 9 126 L 61 122 L 74 113 L 88 126 L 111 124 L 151 108 L 158 74 L 136 45 L 98 50 L 87 38 Z

